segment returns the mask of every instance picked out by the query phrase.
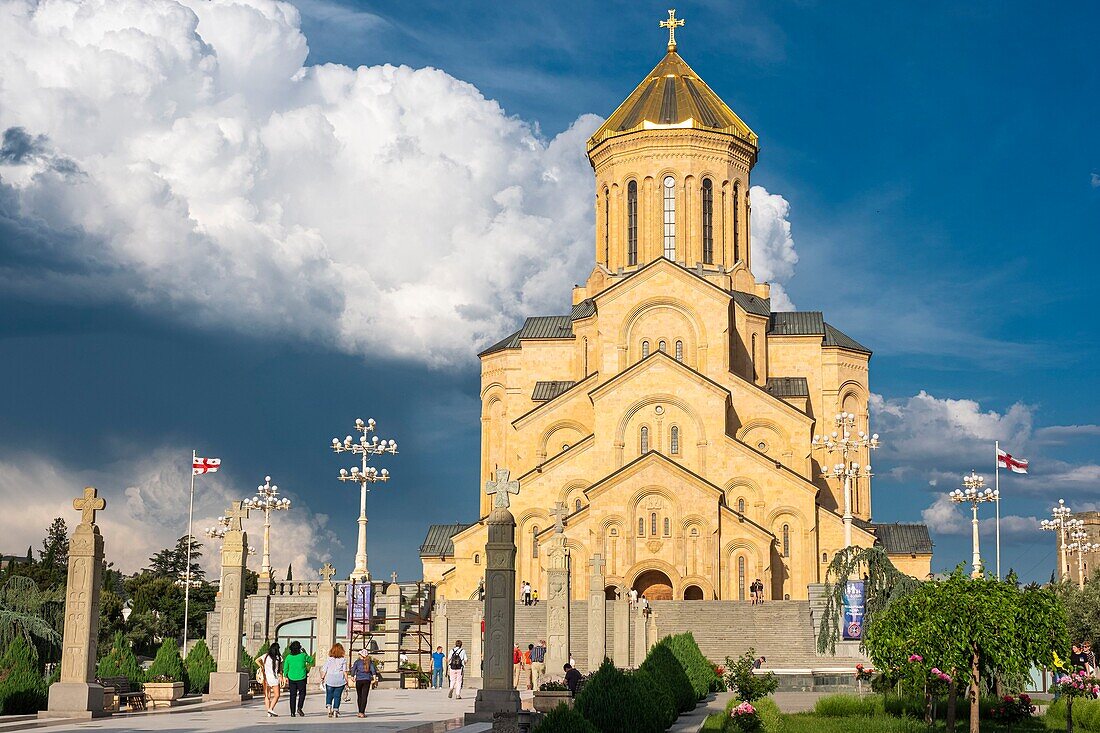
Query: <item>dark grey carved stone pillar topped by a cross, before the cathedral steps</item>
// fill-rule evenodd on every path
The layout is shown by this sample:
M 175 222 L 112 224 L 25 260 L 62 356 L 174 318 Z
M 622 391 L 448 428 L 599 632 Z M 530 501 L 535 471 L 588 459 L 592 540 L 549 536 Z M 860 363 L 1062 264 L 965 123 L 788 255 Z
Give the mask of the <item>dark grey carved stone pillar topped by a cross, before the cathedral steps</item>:
M 519 493 L 519 482 L 508 480 L 508 470 L 485 482 L 493 495 L 493 511 L 485 519 L 485 664 L 482 689 L 466 723 L 515 719 L 519 691 L 513 686 L 512 648 L 516 639 L 516 518 L 508 511 L 508 494 Z

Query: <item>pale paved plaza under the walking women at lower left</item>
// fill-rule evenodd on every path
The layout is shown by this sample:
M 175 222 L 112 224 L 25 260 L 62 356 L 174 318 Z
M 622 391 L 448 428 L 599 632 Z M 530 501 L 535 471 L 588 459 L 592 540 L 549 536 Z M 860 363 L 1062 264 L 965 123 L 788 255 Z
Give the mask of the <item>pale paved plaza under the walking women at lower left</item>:
M 446 690 L 374 690 L 365 719 L 355 716 L 354 696 L 341 704 L 341 715 L 333 720 L 324 714 L 323 696 L 311 693 L 306 699 L 305 718 L 290 718 L 284 697 L 276 711 L 278 718 L 264 714 L 262 700 L 251 700 L 243 705 L 193 703 L 170 711 L 113 715 L 87 722 L 19 721 L 0 724 L 0 732 L 43 729 L 51 733 L 198 733 L 253 729 L 267 733 L 308 733 L 353 729 L 369 733 L 441 733 L 461 725 L 463 714 L 473 710 L 476 694 L 475 689 L 465 689 L 461 700 L 452 700 L 448 699 Z

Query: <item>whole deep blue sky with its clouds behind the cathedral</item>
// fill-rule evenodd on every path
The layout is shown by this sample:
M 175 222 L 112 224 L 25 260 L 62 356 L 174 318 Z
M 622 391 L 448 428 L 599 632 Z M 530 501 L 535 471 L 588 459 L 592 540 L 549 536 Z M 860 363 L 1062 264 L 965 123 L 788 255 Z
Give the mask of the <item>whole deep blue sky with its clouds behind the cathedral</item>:
M 84 6 L 91 28 L 118 22 Z M 143 66 L 163 64 L 160 80 L 130 85 L 139 91 L 103 92 L 97 74 L 122 88 L 136 73 L 86 64 L 95 70 L 51 83 L 69 95 L 62 101 L 81 103 L 51 109 L 53 95 L 41 94 L 50 58 L 34 66 L 29 51 L 31 62 L 18 63 L 33 74 L 11 55 L 0 61 L 0 79 L 26 79 L 0 84 L 0 128 L 29 135 L 6 138 L 0 153 L 0 493 L 28 500 L 3 528 L 12 546 L 0 549 L 23 551 L 65 492 L 98 482 L 114 500 L 108 515 L 120 507 L 109 551 L 132 549 L 133 566 L 139 550 L 183 534 L 177 496 L 194 447 L 224 460 L 200 484 L 207 516 L 271 473 L 297 502 L 276 519 L 275 565 L 331 556 L 350 570 L 358 497 L 336 481 L 343 462 L 327 445 L 373 416 L 400 455 L 387 462 L 394 480 L 372 494 L 372 570 L 414 577 L 428 524 L 476 518 L 477 347 L 524 314 L 562 310 L 590 266 L 584 116 L 609 113 L 660 58 L 667 6 L 519 2 L 501 12 L 308 0 L 297 35 L 294 18 L 270 10 L 250 22 L 197 11 L 196 31 L 174 3 L 154 6 L 165 20 L 143 32 L 184 51 L 172 63 L 160 51 Z M 1059 495 L 1100 508 L 1100 73 L 1090 32 L 1100 13 L 1086 3 L 1050 12 L 1022 2 L 696 2 L 678 14 L 684 58 L 760 135 L 752 183 L 790 204 L 799 262 L 783 287 L 876 351 L 887 448 L 876 457 L 875 518 L 923 513 L 935 568 L 968 560 L 961 510 L 935 502 L 969 468 L 991 473 L 1000 438 L 1034 466 L 1002 482 L 1002 564 L 1047 578 L 1054 543 L 1035 517 Z M 264 23 L 277 42 L 257 41 Z M 26 29 L 10 23 L 0 40 L 37 47 Z M 196 34 L 213 51 L 188 45 Z M 128 53 L 140 61 L 147 47 Z M 200 63 L 211 54 L 212 97 L 196 81 L 212 74 Z M 317 88 L 298 90 L 306 101 L 292 110 L 279 85 L 301 59 L 336 66 L 316 73 Z M 444 74 L 377 70 L 356 87 L 342 68 L 383 64 Z M 307 102 L 331 101 L 336 88 L 351 91 L 327 120 L 314 117 Z M 123 98 L 141 111 L 128 114 Z M 194 128 L 180 121 L 187 108 L 198 110 Z M 272 110 L 278 127 L 237 134 Z M 87 120 L 73 118 L 85 112 L 81 128 Z M 216 138 L 198 118 L 218 120 Z M 371 150 L 327 158 L 317 136 L 327 124 L 361 124 Z M 440 166 L 465 166 L 477 190 L 462 206 L 450 204 L 464 196 L 454 186 L 417 179 L 450 169 Z M 407 172 L 413 183 L 393 185 L 416 195 L 377 220 L 352 219 L 349 210 L 384 196 L 372 188 L 378 172 Z M 164 188 L 145 186 L 153 180 Z M 186 216 L 156 218 L 180 201 Z M 133 214 L 142 207 L 156 214 Z M 509 228 L 496 207 L 540 221 L 530 241 L 517 232 L 531 228 Z M 333 220 L 346 228 L 326 229 Z M 273 227 L 271 241 L 240 243 Z M 385 249 L 394 229 L 418 258 L 446 240 L 442 254 L 505 274 L 469 289 L 447 272 L 418 278 L 422 264 L 395 264 L 399 254 Z M 341 232 L 362 236 L 363 249 L 337 252 Z M 268 260 L 273 251 L 293 256 Z M 365 270 L 349 283 L 351 265 L 317 265 L 329 256 Z M 387 283 L 402 285 L 400 297 Z M 521 295 L 479 295 L 494 289 Z M 451 336 L 408 316 L 425 298 L 469 327 Z M 152 536 L 120 543 L 128 521 Z M 991 561 L 987 539 L 983 549 Z

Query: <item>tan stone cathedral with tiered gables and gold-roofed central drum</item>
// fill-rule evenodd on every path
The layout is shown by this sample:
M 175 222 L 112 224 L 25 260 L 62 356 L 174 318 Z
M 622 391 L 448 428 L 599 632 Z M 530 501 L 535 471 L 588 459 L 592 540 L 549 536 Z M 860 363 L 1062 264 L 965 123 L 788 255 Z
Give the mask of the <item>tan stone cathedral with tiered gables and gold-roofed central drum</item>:
M 759 140 L 676 53 L 680 22 L 587 142 L 595 266 L 572 308 L 480 354 L 481 521 L 429 528 L 420 557 L 439 598 L 479 593 L 483 486 L 502 470 L 520 484 L 517 582 L 546 587 L 540 547 L 560 528 L 574 599 L 600 555 L 608 593 L 746 600 L 759 579 L 768 599 L 805 600 L 845 547 L 846 492 L 814 436 L 838 413 L 870 433 L 871 351 L 820 311 L 772 310 L 752 274 Z M 870 481 L 850 484 L 851 544 L 924 578 L 927 528 L 872 523 Z

